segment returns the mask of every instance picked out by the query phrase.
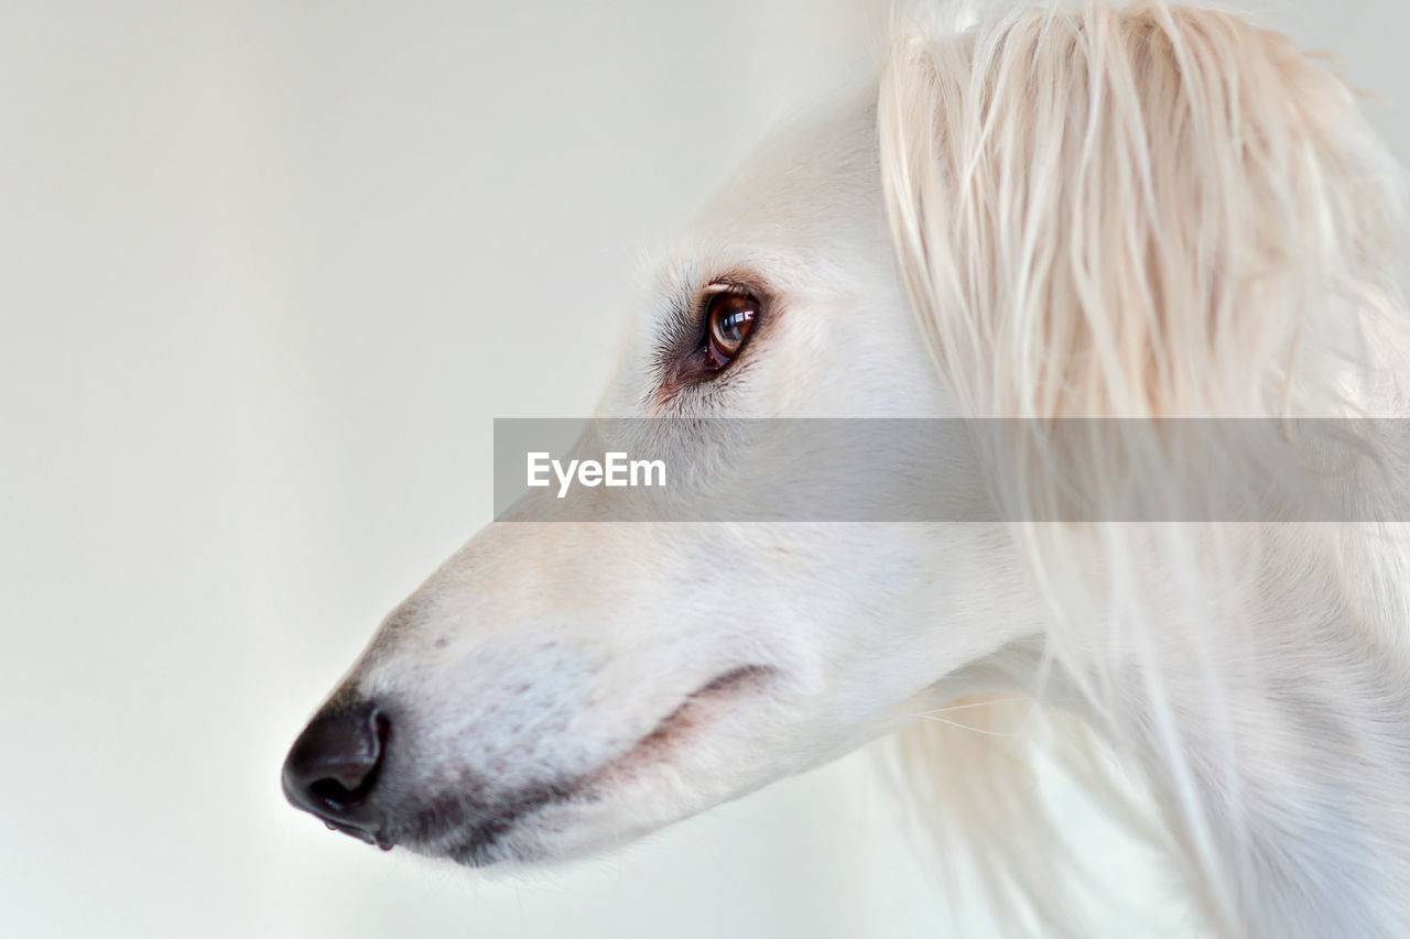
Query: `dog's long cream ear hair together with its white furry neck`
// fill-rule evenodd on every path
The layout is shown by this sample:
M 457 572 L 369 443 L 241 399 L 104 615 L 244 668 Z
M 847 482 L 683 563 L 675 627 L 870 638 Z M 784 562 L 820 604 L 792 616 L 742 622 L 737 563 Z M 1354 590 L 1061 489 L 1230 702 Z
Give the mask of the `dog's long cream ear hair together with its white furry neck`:
M 1045 517 L 1053 461 L 1118 517 L 1200 458 L 1129 422 L 1059 446 L 1062 419 L 1406 413 L 1403 175 L 1327 62 L 1163 3 L 959 20 L 898 30 L 881 176 L 962 410 L 1028 419 L 986 441 L 1011 517 Z M 1289 447 L 1270 434 L 1220 485 L 1296 498 Z M 901 736 L 945 853 L 967 847 L 1004 921 L 1086 935 L 1034 788 L 1048 753 L 1167 850 L 1217 933 L 1410 935 L 1402 526 L 1011 529 L 1050 608 L 1048 680 Z

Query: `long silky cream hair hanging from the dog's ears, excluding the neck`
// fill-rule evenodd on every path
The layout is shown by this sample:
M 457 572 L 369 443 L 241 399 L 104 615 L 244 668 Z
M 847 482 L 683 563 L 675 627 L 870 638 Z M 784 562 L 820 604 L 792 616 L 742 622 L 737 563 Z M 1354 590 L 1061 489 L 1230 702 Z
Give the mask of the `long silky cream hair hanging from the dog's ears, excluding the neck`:
M 1055 419 L 1363 413 L 1383 409 L 1372 386 L 1403 410 L 1390 388 L 1410 348 L 1402 176 L 1335 75 L 1227 14 L 1144 3 L 967 18 L 959 32 L 901 28 L 883 72 L 900 271 L 963 413 L 1028 419 L 994 422 L 990 455 L 1052 608 L 1046 654 L 1089 716 L 1141 702 L 1139 730 L 1097 729 L 1145 753 L 1203 912 L 1246 932 L 1258 859 L 1231 857 L 1238 819 L 1206 804 L 1211 785 L 1238 785 L 1235 743 L 1194 756 L 1190 726 L 1218 737 L 1232 719 L 1225 663 L 1258 627 L 1261 543 L 1227 526 L 1036 522 L 1056 496 L 1031 470 L 1060 448 L 1045 438 Z M 1159 481 L 1190 457 L 1177 437 L 1108 423 L 1066 457 L 1110 478 L 1114 503 L 1131 495 L 1121 481 Z M 1316 537 L 1306 551 L 1335 550 Z M 905 735 L 925 801 L 952 809 L 940 828 L 967 840 L 1007 909 L 1081 935 L 1062 926 L 1055 854 L 1035 850 L 1045 823 L 1022 744 L 933 722 Z

